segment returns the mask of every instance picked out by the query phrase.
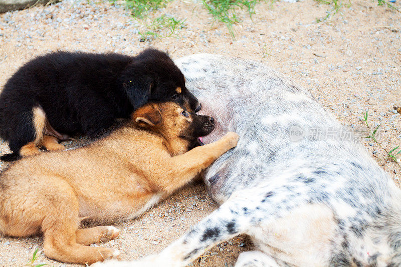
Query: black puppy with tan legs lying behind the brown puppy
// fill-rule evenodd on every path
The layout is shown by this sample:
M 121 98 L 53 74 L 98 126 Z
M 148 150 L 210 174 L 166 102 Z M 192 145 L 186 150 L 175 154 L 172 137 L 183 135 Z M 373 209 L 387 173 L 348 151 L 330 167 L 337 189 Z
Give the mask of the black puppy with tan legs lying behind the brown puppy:
M 164 52 L 147 49 L 121 54 L 54 52 L 28 62 L 0 94 L 0 137 L 9 141 L 11 161 L 64 149 L 69 136 L 99 137 L 148 101 L 172 100 L 200 110 L 185 88 L 181 71 Z

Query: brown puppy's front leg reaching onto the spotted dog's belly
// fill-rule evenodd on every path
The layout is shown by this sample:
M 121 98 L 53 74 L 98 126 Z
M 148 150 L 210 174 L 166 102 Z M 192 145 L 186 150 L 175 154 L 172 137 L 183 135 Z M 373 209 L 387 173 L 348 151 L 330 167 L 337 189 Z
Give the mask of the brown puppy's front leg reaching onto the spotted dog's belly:
M 209 167 L 216 159 L 237 146 L 238 134 L 229 132 L 216 142 L 195 147 L 188 152 L 170 158 L 157 185 L 166 193 L 172 193 L 189 182 L 196 174 Z

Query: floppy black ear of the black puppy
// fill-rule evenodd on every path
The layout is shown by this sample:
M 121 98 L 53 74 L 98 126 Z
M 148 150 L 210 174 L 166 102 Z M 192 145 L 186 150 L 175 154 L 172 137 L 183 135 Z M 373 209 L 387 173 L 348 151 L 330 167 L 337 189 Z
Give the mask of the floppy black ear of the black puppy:
M 124 82 L 123 86 L 131 105 L 137 109 L 149 101 L 153 80 L 150 77 L 138 77 Z

